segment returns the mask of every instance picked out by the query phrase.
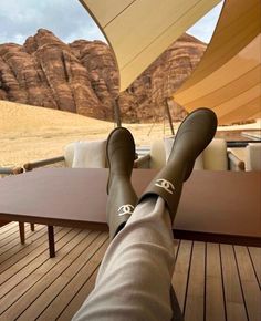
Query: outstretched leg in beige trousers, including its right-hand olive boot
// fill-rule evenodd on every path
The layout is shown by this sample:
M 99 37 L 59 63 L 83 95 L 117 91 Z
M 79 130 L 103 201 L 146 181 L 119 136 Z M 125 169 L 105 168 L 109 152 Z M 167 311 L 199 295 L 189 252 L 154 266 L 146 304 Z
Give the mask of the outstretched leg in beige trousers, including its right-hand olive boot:
M 74 320 L 171 319 L 171 222 L 182 182 L 189 177 L 198 154 L 211 141 L 216 126 L 213 113 L 207 110 L 192 113 L 181 124 L 169 163 L 148 186 L 125 228 L 111 242 L 95 288 Z M 121 179 L 114 176 L 115 182 L 123 179 L 124 175 L 119 176 Z

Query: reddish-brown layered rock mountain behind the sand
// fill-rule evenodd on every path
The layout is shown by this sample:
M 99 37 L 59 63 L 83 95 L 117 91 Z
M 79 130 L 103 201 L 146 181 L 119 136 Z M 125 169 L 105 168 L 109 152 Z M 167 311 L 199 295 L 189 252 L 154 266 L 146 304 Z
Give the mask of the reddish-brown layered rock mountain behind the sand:
M 206 44 L 184 34 L 118 99 L 125 122 L 158 121 L 166 99 L 199 62 Z M 40 29 L 23 45 L 0 44 L 0 100 L 69 111 L 112 121 L 118 73 L 102 41 L 65 44 Z M 174 120 L 186 113 L 170 102 Z

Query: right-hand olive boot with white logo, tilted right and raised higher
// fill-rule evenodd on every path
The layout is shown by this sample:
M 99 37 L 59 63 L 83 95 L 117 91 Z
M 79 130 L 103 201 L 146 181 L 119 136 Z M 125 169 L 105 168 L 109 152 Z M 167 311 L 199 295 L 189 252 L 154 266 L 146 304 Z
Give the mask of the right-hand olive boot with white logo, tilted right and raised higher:
M 216 130 L 217 117 L 211 110 L 199 108 L 190 113 L 178 128 L 168 163 L 148 185 L 139 201 L 149 195 L 163 197 L 173 221 L 182 183 L 190 176 L 196 158 L 212 141 Z

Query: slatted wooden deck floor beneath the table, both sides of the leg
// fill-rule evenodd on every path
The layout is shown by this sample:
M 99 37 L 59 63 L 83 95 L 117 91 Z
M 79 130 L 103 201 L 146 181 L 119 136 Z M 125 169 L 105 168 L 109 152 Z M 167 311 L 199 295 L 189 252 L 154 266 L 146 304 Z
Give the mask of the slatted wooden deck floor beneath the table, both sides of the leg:
M 106 232 L 55 228 L 49 258 L 46 228 L 0 228 L 0 320 L 71 320 L 93 289 L 108 244 Z M 186 321 L 260 321 L 261 249 L 177 241 L 175 291 Z

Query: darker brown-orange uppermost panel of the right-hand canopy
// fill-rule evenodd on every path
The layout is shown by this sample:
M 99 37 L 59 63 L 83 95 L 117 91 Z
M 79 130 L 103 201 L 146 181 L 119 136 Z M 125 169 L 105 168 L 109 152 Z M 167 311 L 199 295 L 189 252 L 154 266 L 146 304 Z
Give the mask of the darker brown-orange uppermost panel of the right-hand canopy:
M 222 66 L 261 32 L 260 0 L 226 0 L 210 44 L 181 92 Z

